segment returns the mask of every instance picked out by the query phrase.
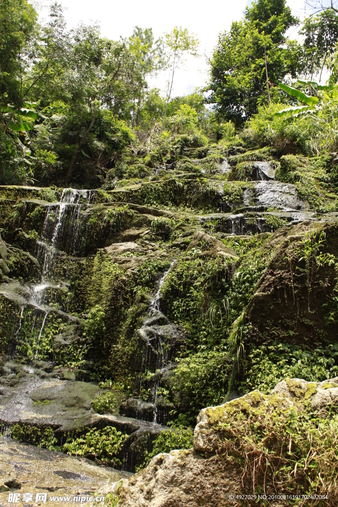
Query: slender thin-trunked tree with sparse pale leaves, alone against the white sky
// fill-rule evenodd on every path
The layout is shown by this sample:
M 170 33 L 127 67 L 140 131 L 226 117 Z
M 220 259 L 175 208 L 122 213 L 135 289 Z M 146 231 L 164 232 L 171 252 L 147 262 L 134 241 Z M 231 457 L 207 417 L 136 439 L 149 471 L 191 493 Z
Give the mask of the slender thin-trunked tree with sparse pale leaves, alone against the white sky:
M 171 68 L 170 75 L 171 79 L 168 80 L 168 88 L 166 93 L 166 108 L 164 111 L 163 120 L 165 120 L 167 114 L 168 103 L 171 96 L 172 85 L 174 81 L 174 74 L 179 65 L 183 61 L 184 54 L 191 54 L 197 56 L 197 48 L 199 45 L 198 39 L 194 34 L 189 34 L 186 28 L 184 30 L 180 26 L 174 26 L 170 33 L 165 34 L 165 44 L 167 50 L 168 67 Z

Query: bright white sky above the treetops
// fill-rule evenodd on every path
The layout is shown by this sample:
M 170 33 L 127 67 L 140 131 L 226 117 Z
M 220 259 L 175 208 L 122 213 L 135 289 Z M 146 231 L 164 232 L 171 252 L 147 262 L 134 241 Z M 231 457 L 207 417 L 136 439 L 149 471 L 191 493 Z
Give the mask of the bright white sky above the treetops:
M 199 58 L 188 57 L 184 68 L 177 70 L 174 78 L 172 96 L 185 95 L 202 87 L 208 78 L 208 65 L 203 53 L 210 55 L 217 43 L 219 32 L 228 30 L 233 20 L 243 16 L 250 0 L 58 0 L 65 8 L 64 15 L 68 28 L 80 21 L 98 23 L 101 34 L 108 39 L 128 37 L 133 27 L 153 28 L 155 39 L 174 25 L 194 32 L 200 40 Z M 39 2 L 39 3 L 38 3 Z M 41 18 L 47 19 L 51 0 L 35 0 L 34 6 Z M 304 17 L 304 0 L 287 0 L 293 14 Z M 297 33 L 291 30 L 291 38 Z M 292 33 L 293 32 L 293 33 Z M 156 86 L 165 93 L 168 72 L 149 79 L 149 85 Z

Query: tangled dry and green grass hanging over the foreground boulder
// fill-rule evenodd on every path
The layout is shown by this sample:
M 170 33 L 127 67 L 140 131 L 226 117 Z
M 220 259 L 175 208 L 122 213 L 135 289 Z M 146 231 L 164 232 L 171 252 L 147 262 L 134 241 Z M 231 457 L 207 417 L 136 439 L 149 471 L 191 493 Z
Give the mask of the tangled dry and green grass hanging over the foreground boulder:
M 254 394 L 257 391 L 254 391 Z M 259 396 L 259 394 L 258 394 Z M 243 468 L 243 484 L 251 491 L 266 492 L 278 483 L 278 492 L 329 495 L 335 498 L 337 461 L 334 445 L 338 420 L 331 409 L 328 414 L 282 409 L 279 405 L 249 407 L 245 401 L 233 403 L 227 419 L 218 430 L 222 439 L 218 453 L 231 455 Z M 245 415 L 244 415 L 245 413 Z M 275 491 L 275 489 L 273 489 Z M 307 504 L 307 499 L 299 505 Z M 327 502 L 327 500 L 326 500 Z M 322 504 L 319 498 L 317 505 Z

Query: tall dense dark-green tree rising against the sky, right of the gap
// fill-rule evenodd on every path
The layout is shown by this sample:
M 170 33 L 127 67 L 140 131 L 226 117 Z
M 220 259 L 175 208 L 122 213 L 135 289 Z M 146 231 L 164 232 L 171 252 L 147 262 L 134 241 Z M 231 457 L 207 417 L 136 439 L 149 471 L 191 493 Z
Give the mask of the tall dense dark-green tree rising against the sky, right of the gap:
M 287 74 L 295 77 L 302 63 L 299 45 L 286 41 L 285 33 L 296 23 L 285 0 L 257 0 L 230 32 L 219 35 L 209 60 L 208 98 L 218 115 L 242 124 L 261 100 L 268 101 L 269 82 L 278 83 Z

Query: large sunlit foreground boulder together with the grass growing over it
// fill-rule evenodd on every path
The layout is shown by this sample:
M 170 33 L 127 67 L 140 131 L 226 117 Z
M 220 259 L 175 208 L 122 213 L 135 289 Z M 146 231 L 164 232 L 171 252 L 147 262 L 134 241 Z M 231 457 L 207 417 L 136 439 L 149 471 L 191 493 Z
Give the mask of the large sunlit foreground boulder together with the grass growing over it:
M 331 413 L 337 400 L 338 377 L 320 383 L 285 379 L 269 395 L 256 390 L 205 408 L 194 448 L 154 457 L 124 481 L 122 505 L 253 505 L 264 503 L 259 494 L 270 495 L 272 505 L 289 505 L 283 495 L 305 491 L 327 494 L 326 504 L 334 505 L 336 460 L 328 460 L 334 454 L 330 439 L 338 435 Z

